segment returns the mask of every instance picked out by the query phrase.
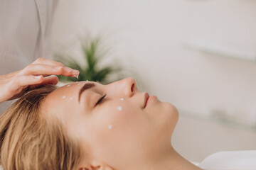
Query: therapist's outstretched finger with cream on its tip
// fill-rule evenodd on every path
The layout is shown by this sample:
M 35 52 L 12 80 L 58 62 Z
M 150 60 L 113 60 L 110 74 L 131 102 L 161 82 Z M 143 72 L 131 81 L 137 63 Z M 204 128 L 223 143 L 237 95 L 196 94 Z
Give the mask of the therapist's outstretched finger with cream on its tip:
M 70 69 L 69 67 L 55 67 L 45 64 L 29 64 L 19 73 L 19 75 L 43 75 L 44 77 L 49 75 L 76 77 L 78 74 L 78 70 Z

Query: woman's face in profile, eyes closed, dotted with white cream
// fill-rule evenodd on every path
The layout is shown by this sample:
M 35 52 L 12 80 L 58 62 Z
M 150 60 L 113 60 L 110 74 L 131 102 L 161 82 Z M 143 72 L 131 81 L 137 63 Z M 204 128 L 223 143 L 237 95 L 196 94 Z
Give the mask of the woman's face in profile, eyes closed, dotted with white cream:
M 53 91 L 43 108 L 82 144 L 87 162 L 121 167 L 156 161 L 171 147 L 178 111 L 156 96 L 144 108 L 145 98 L 146 92 L 138 91 L 131 78 L 107 85 L 80 81 Z

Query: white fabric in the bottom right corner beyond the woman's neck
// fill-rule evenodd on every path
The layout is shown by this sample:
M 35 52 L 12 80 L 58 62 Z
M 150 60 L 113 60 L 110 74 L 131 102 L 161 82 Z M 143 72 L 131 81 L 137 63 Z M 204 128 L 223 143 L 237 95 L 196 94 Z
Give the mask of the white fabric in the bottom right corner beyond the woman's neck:
M 255 170 L 256 150 L 216 152 L 198 166 L 206 170 Z

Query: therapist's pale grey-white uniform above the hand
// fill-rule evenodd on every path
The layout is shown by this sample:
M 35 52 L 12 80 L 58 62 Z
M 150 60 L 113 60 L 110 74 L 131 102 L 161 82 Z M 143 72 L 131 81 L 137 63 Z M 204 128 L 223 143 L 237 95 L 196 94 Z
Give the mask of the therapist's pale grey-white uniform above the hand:
M 52 58 L 50 32 L 58 0 L 0 0 L 0 74 Z M 0 113 L 9 105 L 0 104 Z

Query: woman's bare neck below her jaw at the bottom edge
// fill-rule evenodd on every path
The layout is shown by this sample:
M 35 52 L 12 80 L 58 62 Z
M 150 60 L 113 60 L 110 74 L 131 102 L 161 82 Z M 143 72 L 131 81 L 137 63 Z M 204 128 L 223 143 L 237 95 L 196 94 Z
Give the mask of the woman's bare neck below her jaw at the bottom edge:
M 163 169 L 163 170 L 203 170 L 198 166 L 188 162 L 188 160 L 181 157 L 173 147 L 169 149 L 168 152 L 162 155 L 158 155 L 158 157 L 154 157 L 154 160 L 144 162 L 141 166 L 137 166 L 134 169 L 137 170 L 155 170 L 155 169 Z

